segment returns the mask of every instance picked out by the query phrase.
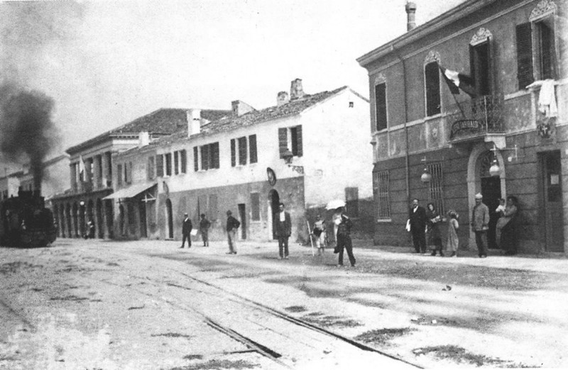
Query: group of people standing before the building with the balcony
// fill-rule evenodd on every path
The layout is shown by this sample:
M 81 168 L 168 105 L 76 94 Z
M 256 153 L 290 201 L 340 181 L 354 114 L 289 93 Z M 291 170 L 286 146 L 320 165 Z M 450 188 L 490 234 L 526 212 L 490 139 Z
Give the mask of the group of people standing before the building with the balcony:
M 501 204 L 496 209 L 499 215 L 496 225 L 496 244 L 501 247 L 506 255 L 517 253 L 517 216 L 518 199 L 508 196 L 507 200 L 500 199 Z M 447 218 L 439 214 L 434 203 L 428 203 L 427 209 L 420 206 L 420 201 L 415 198 L 410 205 L 410 215 L 407 222 L 407 230 L 412 233 L 415 253 L 427 252 L 427 236 L 432 250 L 432 256 L 439 253 L 444 256 L 442 247 L 442 232 L 440 223 L 447 221 L 446 252 L 450 257 L 457 257 L 459 239 L 459 215 L 450 210 Z M 475 233 L 477 252 L 480 258 L 487 257 L 487 233 L 489 230 L 489 208 L 483 203 L 481 194 L 475 195 L 475 206 L 471 211 L 471 230 Z

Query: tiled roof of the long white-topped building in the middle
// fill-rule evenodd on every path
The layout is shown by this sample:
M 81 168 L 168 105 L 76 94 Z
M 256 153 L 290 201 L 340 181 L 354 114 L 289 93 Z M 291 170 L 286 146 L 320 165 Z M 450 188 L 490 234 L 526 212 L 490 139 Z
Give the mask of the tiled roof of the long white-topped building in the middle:
M 338 94 L 344 89 L 349 89 L 348 86 L 339 87 L 333 91 L 322 91 L 317 94 L 305 95 L 302 99 L 297 99 L 289 101 L 281 106 L 271 106 L 269 108 L 262 109 L 260 111 L 251 111 L 245 113 L 242 116 L 225 116 L 219 120 L 212 121 L 207 125 L 201 126 L 201 133 L 195 135 L 210 135 L 212 133 L 220 133 L 224 131 L 234 130 L 235 128 L 254 125 L 256 123 L 266 122 L 268 120 L 275 120 L 277 118 L 283 118 L 288 116 L 294 116 L 307 108 L 314 106 L 321 101 Z M 362 98 L 362 97 L 361 97 Z M 365 99 L 365 98 L 362 98 Z M 365 99 L 366 100 L 366 99 Z M 193 137 L 193 136 L 192 136 Z M 178 141 L 182 138 L 187 138 L 187 131 L 185 133 L 175 133 L 173 135 L 165 136 L 153 142 L 154 145 L 164 145 L 171 142 Z

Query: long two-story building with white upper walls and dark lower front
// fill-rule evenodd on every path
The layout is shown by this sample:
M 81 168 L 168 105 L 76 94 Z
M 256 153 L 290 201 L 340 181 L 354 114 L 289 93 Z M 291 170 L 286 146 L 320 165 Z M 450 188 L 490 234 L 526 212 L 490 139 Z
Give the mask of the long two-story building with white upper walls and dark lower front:
M 206 125 L 203 111 L 192 110 L 187 133 L 117 154 L 117 166 L 134 169 L 132 182 L 107 196 L 121 232 L 180 239 L 184 213 L 195 228 L 203 213 L 211 240 L 222 240 L 230 210 L 241 239 L 273 240 L 283 202 L 293 240 L 307 240 L 306 220 L 325 215 L 332 199 L 347 202 L 358 232 L 372 230 L 368 100 L 347 86 L 305 94 L 300 79 L 276 98 L 261 110 L 234 101 L 231 116 Z

